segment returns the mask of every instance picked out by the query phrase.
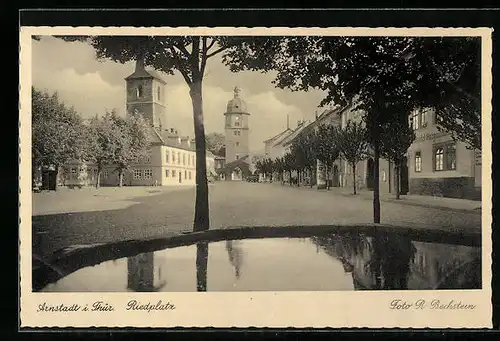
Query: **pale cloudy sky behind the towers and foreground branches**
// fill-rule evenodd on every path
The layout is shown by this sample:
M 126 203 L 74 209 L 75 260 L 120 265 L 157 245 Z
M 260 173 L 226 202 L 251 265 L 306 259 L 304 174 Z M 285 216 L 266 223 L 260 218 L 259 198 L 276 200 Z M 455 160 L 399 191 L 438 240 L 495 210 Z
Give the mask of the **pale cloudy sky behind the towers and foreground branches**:
M 103 115 L 116 109 L 125 115 L 125 80 L 133 73 L 135 64 L 98 61 L 91 46 L 82 42 L 65 42 L 53 37 L 32 41 L 33 86 L 48 92 L 58 92 L 60 98 L 83 117 Z M 168 128 L 194 137 L 192 104 L 189 88 L 182 76 L 165 75 Z M 233 89 L 241 89 L 242 98 L 250 112 L 250 150 L 264 149 L 263 141 L 301 119 L 312 120 L 324 93 L 318 90 L 292 92 L 277 89 L 271 83 L 274 75 L 259 72 L 232 73 L 222 64 L 220 55 L 207 62 L 203 83 L 205 131 L 224 132 L 227 102 Z

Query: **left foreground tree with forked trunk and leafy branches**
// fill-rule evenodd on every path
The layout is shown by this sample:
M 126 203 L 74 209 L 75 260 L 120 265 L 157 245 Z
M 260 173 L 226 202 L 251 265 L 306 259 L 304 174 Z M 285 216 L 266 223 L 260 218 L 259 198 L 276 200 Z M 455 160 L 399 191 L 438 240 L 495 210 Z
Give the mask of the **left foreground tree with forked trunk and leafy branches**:
M 86 41 L 96 50 L 98 59 L 118 63 L 144 60 L 167 75 L 179 72 L 189 87 L 193 107 L 196 145 L 195 231 L 210 228 L 206 143 L 203 117 L 203 78 L 207 61 L 229 47 L 247 40 L 227 36 L 64 36 L 69 41 Z

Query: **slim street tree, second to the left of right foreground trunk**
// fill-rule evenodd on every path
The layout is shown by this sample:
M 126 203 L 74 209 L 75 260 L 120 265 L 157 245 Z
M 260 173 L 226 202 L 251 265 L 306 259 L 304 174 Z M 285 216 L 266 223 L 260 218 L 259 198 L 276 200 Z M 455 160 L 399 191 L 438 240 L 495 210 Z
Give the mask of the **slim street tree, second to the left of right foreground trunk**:
M 316 157 L 323 164 L 327 189 L 330 189 L 329 171 L 333 163 L 338 159 L 340 151 L 335 142 L 335 126 L 331 124 L 320 125 L 315 132 Z

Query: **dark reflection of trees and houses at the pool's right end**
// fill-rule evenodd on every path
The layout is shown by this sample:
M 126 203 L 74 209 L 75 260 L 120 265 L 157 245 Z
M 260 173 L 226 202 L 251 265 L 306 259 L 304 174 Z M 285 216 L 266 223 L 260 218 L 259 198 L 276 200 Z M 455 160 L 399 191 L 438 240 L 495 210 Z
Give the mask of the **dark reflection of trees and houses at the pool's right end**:
M 352 273 L 356 290 L 481 288 L 477 248 L 412 242 L 395 234 L 352 233 L 312 240 Z

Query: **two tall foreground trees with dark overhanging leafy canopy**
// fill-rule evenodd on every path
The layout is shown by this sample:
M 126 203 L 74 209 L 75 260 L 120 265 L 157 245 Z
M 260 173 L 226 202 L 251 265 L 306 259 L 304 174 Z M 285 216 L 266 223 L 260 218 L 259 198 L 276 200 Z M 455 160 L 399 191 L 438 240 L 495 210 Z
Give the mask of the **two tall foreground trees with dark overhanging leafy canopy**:
M 195 231 L 209 229 L 202 84 L 207 60 L 216 55 L 233 72 L 273 71 L 279 88 L 321 89 L 327 94 L 322 104 L 352 103 L 363 110 L 375 160 L 375 223 L 380 223 L 378 160 L 385 122 L 414 108 L 431 107 L 443 118 L 443 130 L 473 148 L 481 146 L 481 40 L 477 37 L 61 38 L 88 42 L 98 59 L 126 63 L 141 58 L 166 74 L 182 75 L 192 100 L 196 138 Z

